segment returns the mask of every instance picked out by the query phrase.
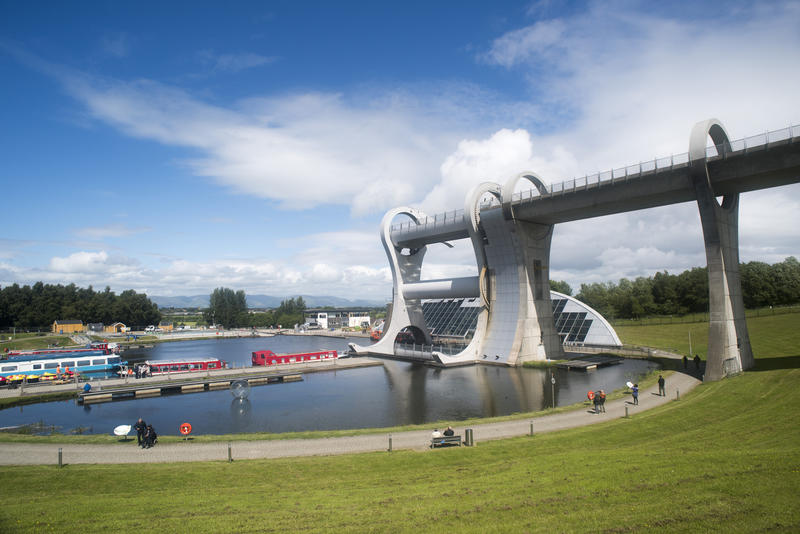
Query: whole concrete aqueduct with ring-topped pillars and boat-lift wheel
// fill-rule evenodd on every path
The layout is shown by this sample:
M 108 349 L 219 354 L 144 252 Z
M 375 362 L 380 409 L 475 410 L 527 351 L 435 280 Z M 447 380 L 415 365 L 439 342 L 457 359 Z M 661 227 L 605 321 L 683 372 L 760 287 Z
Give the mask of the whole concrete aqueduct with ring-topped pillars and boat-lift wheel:
M 522 180 L 533 187 L 516 192 Z M 709 277 L 706 379 L 740 372 L 753 365 L 753 354 L 738 271 L 739 195 L 797 182 L 800 127 L 730 141 L 722 124 L 710 119 L 694 126 L 685 154 L 553 185 L 546 185 L 534 172 L 523 172 L 503 185 L 479 184 L 468 193 L 463 209 L 432 216 L 411 207 L 395 208 L 381 224 L 393 276 L 393 303 L 384 336 L 374 345 L 352 348 L 361 354 L 443 366 L 486 360 L 487 354 L 504 365 L 560 359 L 563 348 L 549 291 L 554 225 L 696 202 Z M 399 215 L 410 221 L 393 224 Z M 457 239 L 471 240 L 480 274 L 421 280 L 427 246 Z M 483 310 L 471 342 L 452 354 L 430 347 L 421 302 L 454 297 L 480 297 Z M 398 347 L 395 338 L 402 330 L 430 348 L 409 354 Z

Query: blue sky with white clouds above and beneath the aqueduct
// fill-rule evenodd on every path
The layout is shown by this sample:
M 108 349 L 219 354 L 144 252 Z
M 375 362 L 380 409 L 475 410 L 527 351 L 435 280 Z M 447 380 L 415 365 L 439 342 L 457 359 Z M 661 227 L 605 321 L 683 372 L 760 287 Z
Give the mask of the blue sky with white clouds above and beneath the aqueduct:
M 386 302 L 389 209 L 800 125 L 800 2 L 654 4 L 0 0 L 0 286 Z M 800 185 L 739 217 L 741 261 L 800 256 Z M 550 277 L 704 265 L 685 203 L 557 225 Z

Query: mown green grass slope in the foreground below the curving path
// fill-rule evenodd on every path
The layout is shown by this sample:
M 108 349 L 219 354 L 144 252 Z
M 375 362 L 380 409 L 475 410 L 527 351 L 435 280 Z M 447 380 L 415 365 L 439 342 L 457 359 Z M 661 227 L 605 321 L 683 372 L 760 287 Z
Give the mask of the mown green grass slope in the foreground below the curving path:
M 5 531 L 800 530 L 798 333 L 759 371 L 629 420 L 426 453 L 6 467 Z M 768 335 L 769 339 L 762 336 Z M 13 494 L 10 488 L 13 489 Z

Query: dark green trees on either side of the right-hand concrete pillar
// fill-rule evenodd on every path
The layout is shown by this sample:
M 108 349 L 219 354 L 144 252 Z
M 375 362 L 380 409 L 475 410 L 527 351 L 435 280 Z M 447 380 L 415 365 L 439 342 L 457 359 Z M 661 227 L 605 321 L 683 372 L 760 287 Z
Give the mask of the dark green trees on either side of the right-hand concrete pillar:
M 740 263 L 739 274 L 745 308 L 800 302 L 800 262 L 793 256 L 773 265 L 759 261 Z M 608 319 L 705 313 L 708 270 L 695 267 L 678 275 L 664 271 L 648 278 L 622 278 L 617 284 L 581 284 L 575 298 Z

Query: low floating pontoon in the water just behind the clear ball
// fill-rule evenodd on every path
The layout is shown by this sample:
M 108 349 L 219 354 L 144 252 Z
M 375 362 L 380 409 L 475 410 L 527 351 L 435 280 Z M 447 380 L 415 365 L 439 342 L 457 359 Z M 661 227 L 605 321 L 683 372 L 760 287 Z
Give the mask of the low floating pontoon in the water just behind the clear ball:
M 203 391 L 216 391 L 228 389 L 231 384 L 238 381 L 247 382 L 251 386 L 264 384 L 277 384 L 283 382 L 298 382 L 303 380 L 303 375 L 298 372 L 263 373 L 255 376 L 239 376 L 225 378 L 200 378 L 195 380 L 181 380 L 171 382 L 136 384 L 126 387 L 108 387 L 96 391 L 81 392 L 78 402 L 90 404 L 110 402 L 122 399 L 141 399 L 145 397 L 158 397 L 177 393 L 201 393 Z

